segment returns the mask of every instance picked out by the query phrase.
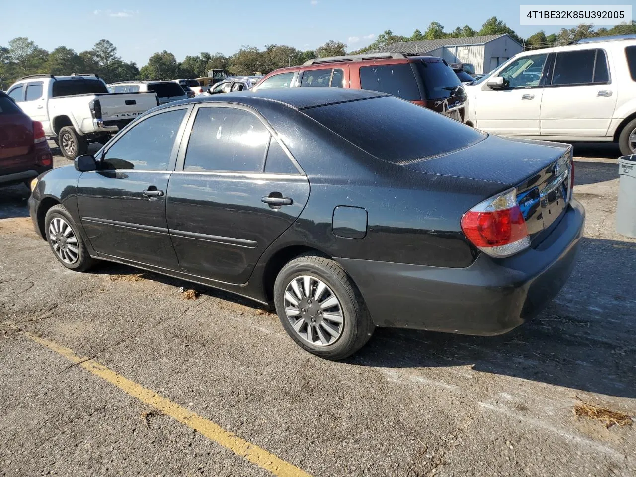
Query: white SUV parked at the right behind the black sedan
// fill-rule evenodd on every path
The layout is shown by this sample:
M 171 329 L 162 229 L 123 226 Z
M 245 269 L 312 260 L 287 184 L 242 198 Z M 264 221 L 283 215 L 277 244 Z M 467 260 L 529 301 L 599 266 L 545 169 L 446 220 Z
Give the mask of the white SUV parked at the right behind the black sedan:
M 519 53 L 465 89 L 466 122 L 481 130 L 636 153 L 635 35 Z

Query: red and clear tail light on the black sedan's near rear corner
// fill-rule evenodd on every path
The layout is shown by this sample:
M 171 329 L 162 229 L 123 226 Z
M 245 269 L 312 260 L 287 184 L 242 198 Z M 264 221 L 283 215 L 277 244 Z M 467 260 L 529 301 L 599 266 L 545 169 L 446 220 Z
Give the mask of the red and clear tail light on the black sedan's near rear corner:
M 509 257 L 530 247 L 516 189 L 475 205 L 462 216 L 461 225 L 471 244 L 492 257 Z

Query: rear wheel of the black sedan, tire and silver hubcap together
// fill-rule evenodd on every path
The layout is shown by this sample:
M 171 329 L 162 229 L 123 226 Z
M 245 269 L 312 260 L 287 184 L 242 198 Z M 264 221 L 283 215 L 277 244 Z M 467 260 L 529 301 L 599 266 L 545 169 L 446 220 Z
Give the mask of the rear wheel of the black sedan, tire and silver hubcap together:
M 326 359 L 344 359 L 373 334 L 364 300 L 335 261 L 301 255 L 280 270 L 274 303 L 287 334 L 303 349 Z

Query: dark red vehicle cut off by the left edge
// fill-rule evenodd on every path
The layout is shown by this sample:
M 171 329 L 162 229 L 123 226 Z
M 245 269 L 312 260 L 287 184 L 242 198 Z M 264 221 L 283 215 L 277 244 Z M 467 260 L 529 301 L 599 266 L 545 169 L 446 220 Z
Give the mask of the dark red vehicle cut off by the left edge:
M 44 127 L 0 92 L 0 186 L 24 182 L 53 167 Z

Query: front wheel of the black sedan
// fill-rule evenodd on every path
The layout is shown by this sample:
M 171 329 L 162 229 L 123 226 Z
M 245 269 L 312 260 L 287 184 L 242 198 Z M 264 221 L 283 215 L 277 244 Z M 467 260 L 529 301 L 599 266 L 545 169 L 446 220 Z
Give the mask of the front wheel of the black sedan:
M 58 226 L 59 222 L 55 221 L 55 219 L 62 219 L 63 223 L 70 226 L 72 234 L 63 234 L 62 232 L 66 231 L 66 228 L 60 228 Z M 55 223 L 53 223 L 53 221 L 55 221 Z M 79 235 L 78 227 L 64 205 L 53 205 L 53 207 L 48 209 L 44 223 L 46 241 L 49 247 L 51 247 L 55 258 L 57 258 L 62 265 L 76 272 L 85 272 L 95 265 L 97 261 L 88 254 L 84 240 L 81 235 Z M 53 232 L 56 230 L 58 231 L 53 235 Z M 64 239 L 62 239 L 62 235 L 65 235 Z M 73 237 L 75 239 L 74 241 L 72 241 Z M 66 240 L 68 240 L 68 242 Z M 57 250 L 55 249 L 55 244 L 58 245 Z M 60 247 L 64 250 L 63 252 L 58 251 Z M 74 252 L 73 249 L 76 249 L 76 252 Z M 65 260 L 64 257 L 74 259 Z

